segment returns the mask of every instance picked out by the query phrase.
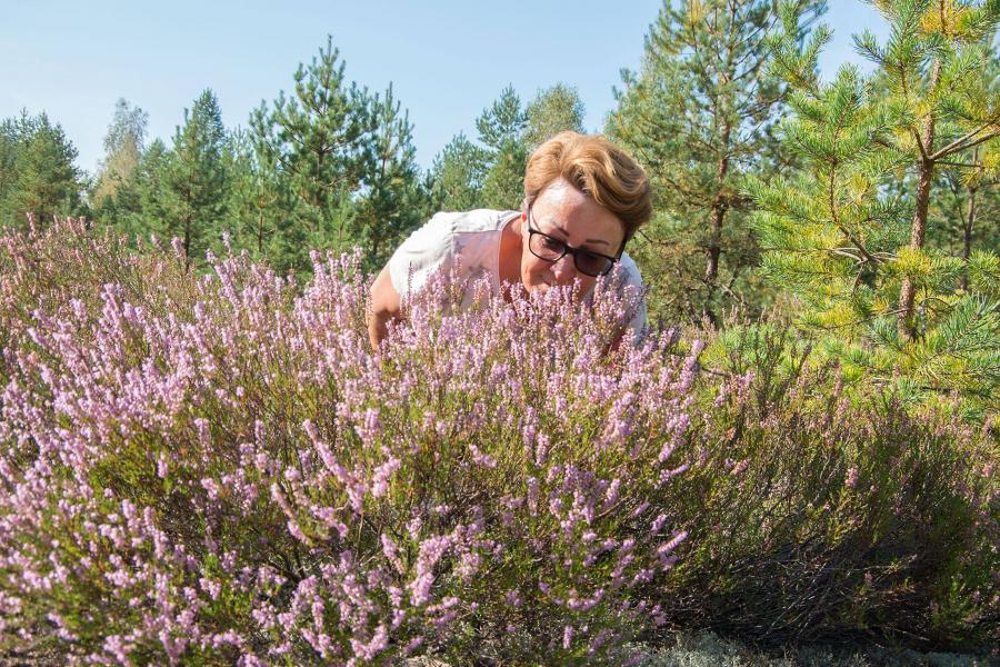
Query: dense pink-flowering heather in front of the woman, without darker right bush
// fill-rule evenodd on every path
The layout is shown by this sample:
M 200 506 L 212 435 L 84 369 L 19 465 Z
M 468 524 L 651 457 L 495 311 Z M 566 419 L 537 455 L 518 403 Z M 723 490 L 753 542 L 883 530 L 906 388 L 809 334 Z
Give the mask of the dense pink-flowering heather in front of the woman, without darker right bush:
M 454 313 L 442 278 L 374 355 L 358 257 L 314 256 L 297 296 L 84 232 L 0 257 L 3 650 L 600 661 L 662 623 L 640 591 L 686 537 L 662 491 L 694 362 L 668 335 L 608 352 L 628 299 Z

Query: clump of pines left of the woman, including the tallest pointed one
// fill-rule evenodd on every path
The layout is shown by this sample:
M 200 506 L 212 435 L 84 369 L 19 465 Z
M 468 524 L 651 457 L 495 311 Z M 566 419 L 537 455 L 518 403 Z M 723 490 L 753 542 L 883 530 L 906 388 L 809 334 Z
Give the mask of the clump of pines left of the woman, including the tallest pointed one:
M 348 81 L 344 67 L 328 38 L 299 66 L 294 93 L 282 91 L 272 110 L 261 104 L 250 119 L 257 252 L 272 239 L 268 255 L 282 270 L 309 272 L 309 249 L 359 245 L 373 267 L 430 209 L 412 126 L 392 87 L 372 96 Z M 248 210 L 246 199 L 241 206 Z

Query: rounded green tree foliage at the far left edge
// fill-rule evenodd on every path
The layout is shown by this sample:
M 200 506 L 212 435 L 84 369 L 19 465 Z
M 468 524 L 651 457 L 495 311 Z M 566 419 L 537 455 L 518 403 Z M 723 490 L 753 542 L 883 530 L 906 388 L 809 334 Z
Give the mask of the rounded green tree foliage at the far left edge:
M 24 227 L 26 215 L 41 225 L 56 215 L 83 212 L 77 149 L 46 113 L 0 123 L 0 225 Z

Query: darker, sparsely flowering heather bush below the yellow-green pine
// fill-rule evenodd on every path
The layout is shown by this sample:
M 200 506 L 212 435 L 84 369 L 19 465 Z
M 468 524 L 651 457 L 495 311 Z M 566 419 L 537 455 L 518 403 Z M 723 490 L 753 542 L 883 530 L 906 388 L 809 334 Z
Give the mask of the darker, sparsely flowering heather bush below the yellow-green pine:
M 700 465 L 666 490 L 691 535 L 666 590 L 671 619 L 771 645 L 1000 641 L 992 424 L 958 417 L 953 396 L 913 411 L 848 391 L 771 325 L 723 337 L 704 361 L 730 375 L 704 385 L 701 439 L 678 452 Z

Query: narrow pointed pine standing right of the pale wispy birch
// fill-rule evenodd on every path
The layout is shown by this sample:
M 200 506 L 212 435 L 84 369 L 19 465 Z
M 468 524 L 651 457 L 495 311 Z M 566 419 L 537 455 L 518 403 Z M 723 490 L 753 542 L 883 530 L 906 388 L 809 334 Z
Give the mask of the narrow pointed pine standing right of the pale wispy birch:
M 200 261 L 226 216 L 229 182 L 222 159 L 226 129 L 211 90 L 202 92 L 173 137 L 164 187 L 169 215 L 161 231 L 181 239 L 189 265 Z

